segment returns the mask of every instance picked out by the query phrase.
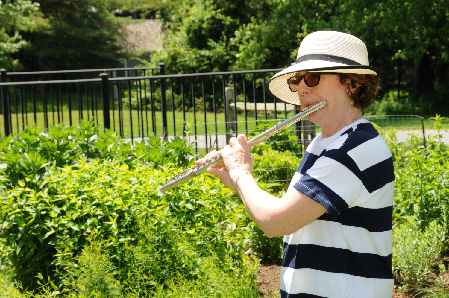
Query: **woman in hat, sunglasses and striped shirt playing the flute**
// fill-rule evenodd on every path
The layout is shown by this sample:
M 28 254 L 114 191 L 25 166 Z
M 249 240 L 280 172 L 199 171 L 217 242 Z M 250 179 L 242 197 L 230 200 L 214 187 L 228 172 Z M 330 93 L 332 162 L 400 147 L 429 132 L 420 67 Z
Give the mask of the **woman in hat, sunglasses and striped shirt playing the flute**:
M 355 36 L 309 34 L 296 64 L 267 84 L 271 96 L 302 108 L 329 101 L 308 116 L 321 134 L 308 146 L 285 196 L 259 188 L 244 135 L 220 151 L 221 166 L 207 170 L 238 192 L 268 237 L 284 236 L 282 297 L 392 297 L 392 156 L 362 118 L 379 89 L 377 74 Z

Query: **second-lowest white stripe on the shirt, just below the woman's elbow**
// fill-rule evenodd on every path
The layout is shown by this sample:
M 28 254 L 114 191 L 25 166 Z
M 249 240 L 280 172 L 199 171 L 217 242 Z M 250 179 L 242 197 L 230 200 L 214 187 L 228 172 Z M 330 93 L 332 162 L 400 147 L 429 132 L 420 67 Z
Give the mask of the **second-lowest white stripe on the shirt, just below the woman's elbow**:
M 289 245 L 321 245 L 348 249 L 357 253 L 378 254 L 383 257 L 392 253 L 391 230 L 369 232 L 365 228 L 346 226 L 328 220 L 317 219 L 289 235 L 288 238 L 284 238 L 284 241 Z

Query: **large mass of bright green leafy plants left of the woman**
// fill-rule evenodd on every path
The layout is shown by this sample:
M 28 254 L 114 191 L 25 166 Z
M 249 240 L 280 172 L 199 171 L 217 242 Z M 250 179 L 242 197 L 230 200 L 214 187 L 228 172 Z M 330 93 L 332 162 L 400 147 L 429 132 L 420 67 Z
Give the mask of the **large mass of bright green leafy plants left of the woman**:
M 179 138 L 131 147 L 87 122 L 0 142 L 0 253 L 16 285 L 67 297 L 225 297 L 217 289 L 254 285 L 252 221 L 235 193 L 207 174 L 158 195 L 189 152 Z

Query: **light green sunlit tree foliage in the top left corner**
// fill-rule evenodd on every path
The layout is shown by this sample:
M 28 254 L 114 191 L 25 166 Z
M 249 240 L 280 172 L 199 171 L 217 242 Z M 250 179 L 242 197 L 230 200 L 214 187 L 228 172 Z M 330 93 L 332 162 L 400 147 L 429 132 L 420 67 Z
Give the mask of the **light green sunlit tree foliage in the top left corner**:
M 0 68 L 16 70 L 21 67 L 18 59 L 11 57 L 26 46 L 19 31 L 32 31 L 36 23 L 29 16 L 39 11 L 39 3 L 27 0 L 17 0 L 11 3 L 0 1 Z

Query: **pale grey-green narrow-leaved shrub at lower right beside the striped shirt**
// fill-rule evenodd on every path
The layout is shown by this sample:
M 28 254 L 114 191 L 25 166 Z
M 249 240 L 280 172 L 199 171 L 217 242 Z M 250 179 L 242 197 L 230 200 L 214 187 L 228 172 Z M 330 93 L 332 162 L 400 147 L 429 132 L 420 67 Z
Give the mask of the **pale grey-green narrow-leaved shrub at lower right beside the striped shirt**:
M 393 228 L 392 268 L 396 281 L 422 285 L 444 246 L 445 227 L 436 220 L 420 229 L 411 216 Z

